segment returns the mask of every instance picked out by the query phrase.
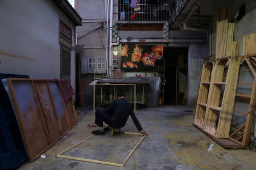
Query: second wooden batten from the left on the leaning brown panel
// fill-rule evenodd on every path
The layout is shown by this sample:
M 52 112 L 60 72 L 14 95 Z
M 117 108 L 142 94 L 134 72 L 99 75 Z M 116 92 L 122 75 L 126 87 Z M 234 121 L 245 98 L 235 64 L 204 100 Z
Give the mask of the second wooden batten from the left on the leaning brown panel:
M 39 111 L 39 114 L 40 114 L 40 117 L 41 117 L 41 120 L 42 120 L 44 132 L 46 133 L 48 144 L 49 144 L 51 142 L 51 139 L 49 137 L 49 131 L 48 131 L 48 128 L 47 128 L 47 125 L 46 125 L 46 120 L 44 119 L 44 115 L 43 115 L 43 112 L 42 112 L 42 108 L 41 108 L 41 104 L 40 104 L 40 101 L 39 101 L 38 92 L 37 92 L 34 80 L 32 80 L 32 89 L 34 91 L 36 105 L 38 107 L 38 111 Z

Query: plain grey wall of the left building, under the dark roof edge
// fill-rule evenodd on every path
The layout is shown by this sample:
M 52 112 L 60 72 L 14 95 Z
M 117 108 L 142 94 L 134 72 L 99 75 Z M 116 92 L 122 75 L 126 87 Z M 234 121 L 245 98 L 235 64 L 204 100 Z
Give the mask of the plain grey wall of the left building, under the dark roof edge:
M 0 73 L 60 78 L 59 19 L 72 29 L 72 46 L 75 46 L 75 27 L 55 3 L 1 1 L 0 17 Z M 75 90 L 74 51 L 71 52 L 71 85 Z

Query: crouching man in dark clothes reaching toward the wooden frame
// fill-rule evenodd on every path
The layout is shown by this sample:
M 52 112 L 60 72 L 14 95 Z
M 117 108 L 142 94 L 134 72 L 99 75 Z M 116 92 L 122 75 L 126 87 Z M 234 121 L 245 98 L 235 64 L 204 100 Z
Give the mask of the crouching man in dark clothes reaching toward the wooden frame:
M 92 134 L 104 135 L 106 131 L 110 130 L 108 127 L 105 129 L 103 128 L 103 122 L 112 128 L 122 128 L 125 126 L 130 115 L 138 131 L 147 135 L 146 131 L 142 129 L 141 124 L 139 124 L 139 121 L 133 112 L 133 107 L 126 100 L 125 94 L 123 94 L 123 92 L 119 92 L 117 97 L 118 99 L 114 100 L 104 110 L 97 109 L 95 112 L 95 124 L 100 126 L 100 129 L 92 131 Z

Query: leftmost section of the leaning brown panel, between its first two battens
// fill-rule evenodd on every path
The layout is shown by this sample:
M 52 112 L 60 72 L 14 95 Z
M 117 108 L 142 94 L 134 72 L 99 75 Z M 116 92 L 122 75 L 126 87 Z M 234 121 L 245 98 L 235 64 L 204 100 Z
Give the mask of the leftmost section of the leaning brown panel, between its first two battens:
M 44 122 L 36 103 L 36 94 L 34 93 L 32 82 L 13 81 L 13 87 L 30 150 L 28 156 L 31 159 L 32 156 L 37 155 L 49 145 L 47 133 L 44 130 Z

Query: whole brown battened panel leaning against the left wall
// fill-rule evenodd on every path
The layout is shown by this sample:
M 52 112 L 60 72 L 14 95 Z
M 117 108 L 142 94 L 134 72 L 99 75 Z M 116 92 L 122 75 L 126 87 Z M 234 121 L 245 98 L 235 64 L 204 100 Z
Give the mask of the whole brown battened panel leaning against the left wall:
M 55 80 L 7 79 L 28 159 L 34 161 L 77 125 L 73 101 L 65 105 Z M 6 86 L 5 86 L 6 87 Z

